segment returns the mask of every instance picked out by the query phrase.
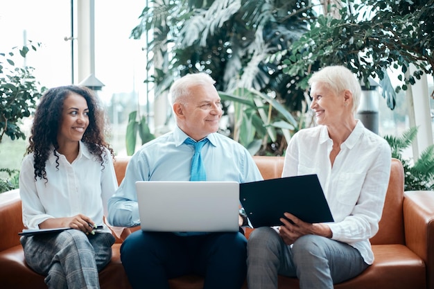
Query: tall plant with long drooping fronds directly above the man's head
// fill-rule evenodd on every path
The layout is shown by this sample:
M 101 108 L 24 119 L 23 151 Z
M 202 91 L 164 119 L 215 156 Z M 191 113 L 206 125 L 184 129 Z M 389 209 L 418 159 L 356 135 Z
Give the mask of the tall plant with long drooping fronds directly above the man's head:
M 156 95 L 173 78 L 207 71 L 220 91 L 236 87 L 276 91 L 290 98 L 290 76 L 269 57 L 307 30 L 304 0 L 150 0 L 131 37 L 146 36 Z M 289 89 L 290 90 L 290 89 Z M 293 99 L 293 98 L 291 98 Z M 293 103 L 288 102 L 289 107 Z

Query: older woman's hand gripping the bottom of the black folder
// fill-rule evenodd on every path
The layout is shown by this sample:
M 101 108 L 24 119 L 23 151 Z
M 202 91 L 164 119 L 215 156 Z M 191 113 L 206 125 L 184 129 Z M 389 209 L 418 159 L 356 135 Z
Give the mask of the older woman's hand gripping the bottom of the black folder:
M 303 222 L 291 213 L 284 213 L 285 218 L 280 218 L 283 225 L 279 227 L 279 235 L 286 245 L 293 244 L 298 238 L 312 234 L 331 238 L 333 236 L 329 226 L 323 223 L 311 224 Z

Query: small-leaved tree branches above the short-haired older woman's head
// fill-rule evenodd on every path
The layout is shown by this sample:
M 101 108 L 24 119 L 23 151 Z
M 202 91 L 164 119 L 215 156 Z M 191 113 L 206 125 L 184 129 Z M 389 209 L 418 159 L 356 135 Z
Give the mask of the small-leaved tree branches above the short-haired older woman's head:
M 311 71 L 331 64 L 346 65 L 370 87 L 378 77 L 383 97 L 393 109 L 396 93 L 413 85 L 434 69 L 433 0 L 342 0 L 339 17 L 320 15 L 309 32 L 287 50 L 285 72 L 299 76 L 297 87 L 306 89 Z M 415 69 L 410 71 L 410 64 Z M 400 85 L 393 88 L 388 69 L 397 69 Z

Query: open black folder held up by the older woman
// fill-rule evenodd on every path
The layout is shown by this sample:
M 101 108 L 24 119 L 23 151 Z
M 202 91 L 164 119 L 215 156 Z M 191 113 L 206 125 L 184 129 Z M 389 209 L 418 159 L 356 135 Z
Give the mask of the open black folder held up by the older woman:
M 240 184 L 240 201 L 254 228 L 282 225 L 285 212 L 304 222 L 333 222 L 317 175 Z

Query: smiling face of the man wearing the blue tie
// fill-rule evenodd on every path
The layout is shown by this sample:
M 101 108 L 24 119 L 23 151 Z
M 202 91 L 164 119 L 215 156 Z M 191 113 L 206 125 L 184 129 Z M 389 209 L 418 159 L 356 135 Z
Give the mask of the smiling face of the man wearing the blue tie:
M 199 141 L 217 132 L 223 112 L 214 85 L 191 87 L 186 102 L 177 105 L 178 125 L 189 137 Z

